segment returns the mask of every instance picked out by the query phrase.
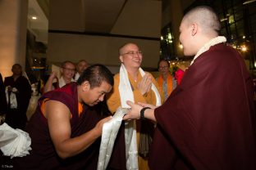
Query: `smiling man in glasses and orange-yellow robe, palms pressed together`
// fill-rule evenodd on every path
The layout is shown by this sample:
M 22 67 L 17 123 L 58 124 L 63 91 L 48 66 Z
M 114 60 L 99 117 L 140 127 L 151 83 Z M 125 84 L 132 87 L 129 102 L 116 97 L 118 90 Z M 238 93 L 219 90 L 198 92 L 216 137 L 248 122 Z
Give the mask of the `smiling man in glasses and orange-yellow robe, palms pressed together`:
M 162 100 L 158 91 L 158 83 L 152 74 L 144 73 L 144 70 L 140 68 L 142 58 L 142 52 L 135 43 L 126 43 L 119 49 L 119 59 L 121 60 L 120 72 L 114 76 L 113 91 L 107 96 L 107 106 L 112 114 L 120 106 L 121 108 L 129 108 L 130 106 L 126 105 L 127 100 L 135 101 L 135 103 L 146 102 L 153 105 L 161 105 Z M 134 132 L 131 137 L 132 139 L 129 141 L 127 140 L 125 129 L 125 139 L 130 142 L 128 144 L 130 147 L 127 147 L 126 143 L 126 155 L 124 153 L 121 154 L 124 155 L 126 167 L 121 168 L 149 169 L 147 163 L 149 143 L 146 141 L 148 137 L 150 138 L 153 135 L 152 133 L 149 134 L 150 130 L 153 129 L 153 123 L 139 120 L 135 122 L 130 121 L 130 125 L 126 122 L 125 126 L 126 129 L 130 126 Z M 144 140 L 142 139 L 143 136 Z M 124 149 L 115 148 L 115 150 L 121 152 Z M 123 160 L 121 159 L 119 163 L 123 163 Z M 120 166 L 123 166 L 123 164 Z

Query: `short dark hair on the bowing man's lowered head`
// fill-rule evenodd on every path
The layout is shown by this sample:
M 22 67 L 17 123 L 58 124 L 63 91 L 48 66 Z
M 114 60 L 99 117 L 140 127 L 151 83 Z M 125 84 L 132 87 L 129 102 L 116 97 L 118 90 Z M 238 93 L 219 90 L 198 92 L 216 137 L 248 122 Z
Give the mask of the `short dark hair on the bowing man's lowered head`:
M 114 78 L 112 73 L 106 66 L 96 64 L 90 65 L 85 71 L 80 75 L 77 80 L 77 84 L 81 85 L 85 81 L 89 82 L 91 88 L 99 87 L 103 81 L 107 82 L 111 86 L 114 85 Z

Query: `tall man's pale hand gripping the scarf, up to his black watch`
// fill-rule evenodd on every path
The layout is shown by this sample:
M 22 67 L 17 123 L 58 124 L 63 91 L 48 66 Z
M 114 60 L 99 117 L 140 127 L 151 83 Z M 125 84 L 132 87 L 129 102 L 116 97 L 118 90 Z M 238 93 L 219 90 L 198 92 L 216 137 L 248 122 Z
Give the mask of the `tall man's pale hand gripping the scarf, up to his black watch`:
M 126 103 L 127 105 L 130 105 L 130 111 L 123 117 L 123 120 L 139 119 L 140 110 L 142 110 L 143 107 L 141 105 L 136 105 L 131 101 L 126 101 Z

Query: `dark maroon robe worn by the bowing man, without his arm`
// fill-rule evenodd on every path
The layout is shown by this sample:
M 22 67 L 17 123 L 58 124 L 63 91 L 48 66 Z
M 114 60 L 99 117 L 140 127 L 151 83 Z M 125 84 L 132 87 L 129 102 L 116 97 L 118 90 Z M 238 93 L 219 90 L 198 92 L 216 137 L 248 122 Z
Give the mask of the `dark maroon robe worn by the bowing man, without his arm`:
M 71 110 L 71 137 L 80 136 L 88 132 L 94 128 L 100 119 L 106 117 L 106 115 L 98 114 L 100 108 L 89 107 L 87 105 L 84 105 L 83 113 L 79 117 L 77 86 L 75 83 L 70 83 L 65 87 L 43 94 L 39 99 L 39 106 L 36 112 L 26 127 L 26 131 L 29 132 L 31 137 L 32 150 L 30 151 L 30 155 L 16 158 L 14 168 L 42 170 L 97 169 L 100 137 L 89 148 L 74 157 L 69 159 L 58 157 L 48 131 L 47 119 L 45 119 L 40 110 L 40 105 L 44 98 L 61 101 Z

